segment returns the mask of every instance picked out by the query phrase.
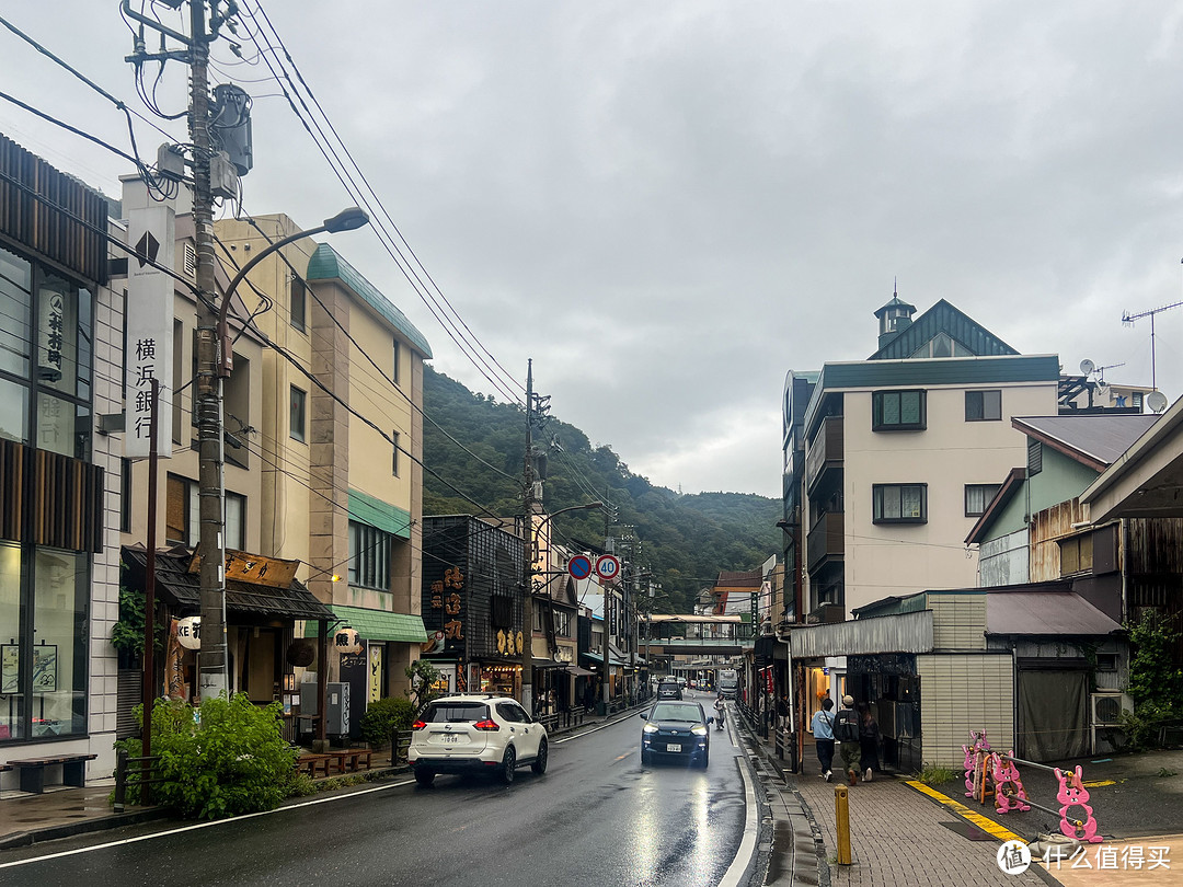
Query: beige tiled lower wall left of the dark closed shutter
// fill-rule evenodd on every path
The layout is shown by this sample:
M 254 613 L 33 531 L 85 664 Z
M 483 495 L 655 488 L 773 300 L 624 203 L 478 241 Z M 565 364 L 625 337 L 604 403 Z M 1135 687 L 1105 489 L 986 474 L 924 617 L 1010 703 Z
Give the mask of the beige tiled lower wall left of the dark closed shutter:
M 935 620 L 936 622 L 936 620 Z M 924 763 L 961 770 L 971 730 L 995 749 L 1015 745 L 1014 673 L 1009 653 L 918 655 Z

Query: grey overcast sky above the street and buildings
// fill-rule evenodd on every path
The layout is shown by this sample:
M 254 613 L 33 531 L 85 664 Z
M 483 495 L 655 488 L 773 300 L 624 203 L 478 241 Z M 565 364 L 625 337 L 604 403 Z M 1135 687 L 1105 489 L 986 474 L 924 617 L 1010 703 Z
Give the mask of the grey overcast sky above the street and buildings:
M 521 383 L 532 357 L 554 414 L 657 484 L 778 496 L 786 373 L 874 351 L 897 277 L 920 311 L 945 298 L 1024 354 L 1124 364 L 1105 377 L 1132 384 L 1150 384 L 1150 322 L 1123 312 L 1183 299 L 1183 4 L 264 9 L 471 335 Z M 148 114 L 116 0 L 0 15 Z M 245 211 L 311 226 L 354 202 L 267 69 L 213 54 L 254 97 Z M 162 110 L 185 89 L 170 63 Z M 129 147 L 110 103 L 7 31 L 0 91 Z M 112 196 L 131 171 L 2 101 L 0 131 Z M 163 141 L 136 135 L 149 156 Z M 331 242 L 438 370 L 497 393 L 375 232 Z M 1155 329 L 1174 401 L 1183 307 Z

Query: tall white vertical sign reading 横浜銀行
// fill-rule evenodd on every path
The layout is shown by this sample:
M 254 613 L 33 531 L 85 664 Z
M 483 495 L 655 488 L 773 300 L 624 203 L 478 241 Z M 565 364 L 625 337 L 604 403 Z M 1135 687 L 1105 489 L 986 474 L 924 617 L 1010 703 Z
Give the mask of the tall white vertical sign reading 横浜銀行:
M 128 209 L 127 394 L 123 455 L 147 457 L 151 421 L 151 380 L 160 382 L 156 448 L 173 455 L 173 290 L 176 215 L 168 205 Z

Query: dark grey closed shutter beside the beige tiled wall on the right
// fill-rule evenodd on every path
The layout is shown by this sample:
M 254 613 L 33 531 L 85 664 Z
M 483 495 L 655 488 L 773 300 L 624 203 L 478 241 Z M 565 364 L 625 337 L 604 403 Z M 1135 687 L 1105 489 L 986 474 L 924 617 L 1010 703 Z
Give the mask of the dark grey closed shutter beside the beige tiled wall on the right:
M 1087 755 L 1087 672 L 1021 669 L 1019 756 L 1054 762 Z

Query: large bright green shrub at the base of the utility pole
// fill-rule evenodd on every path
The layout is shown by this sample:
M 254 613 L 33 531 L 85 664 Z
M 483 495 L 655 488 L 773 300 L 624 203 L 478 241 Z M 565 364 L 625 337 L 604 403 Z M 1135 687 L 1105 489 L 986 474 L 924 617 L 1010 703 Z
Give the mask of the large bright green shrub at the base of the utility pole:
M 153 799 L 182 816 L 216 820 L 278 807 L 295 779 L 295 752 L 284 742 L 278 703 L 260 707 L 245 693 L 208 699 L 200 712 L 180 701 L 153 708 Z M 137 716 L 141 712 L 137 711 Z M 140 753 L 138 739 L 117 746 Z M 140 797 L 128 782 L 128 802 Z

